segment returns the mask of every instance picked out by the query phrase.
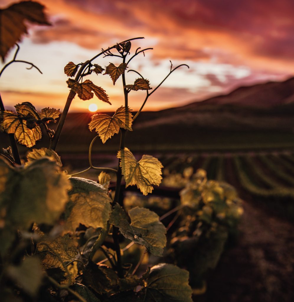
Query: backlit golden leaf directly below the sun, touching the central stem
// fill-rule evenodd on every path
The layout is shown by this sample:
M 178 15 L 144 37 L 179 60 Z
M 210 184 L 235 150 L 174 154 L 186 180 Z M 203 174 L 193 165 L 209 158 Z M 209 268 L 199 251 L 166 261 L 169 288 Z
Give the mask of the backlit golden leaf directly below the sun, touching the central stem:
M 95 131 L 99 134 L 102 143 L 105 143 L 108 138 L 119 132 L 119 128 L 133 131 L 132 117 L 131 109 L 126 109 L 124 106 L 121 106 L 115 111 L 115 114 L 113 114 L 112 117 L 108 114 L 102 113 L 92 115 L 92 120 L 89 123 L 89 129 L 91 131 L 95 129 Z

